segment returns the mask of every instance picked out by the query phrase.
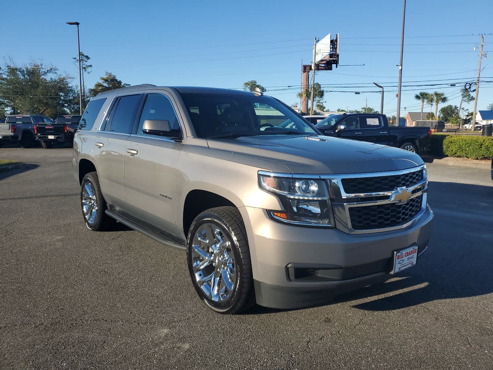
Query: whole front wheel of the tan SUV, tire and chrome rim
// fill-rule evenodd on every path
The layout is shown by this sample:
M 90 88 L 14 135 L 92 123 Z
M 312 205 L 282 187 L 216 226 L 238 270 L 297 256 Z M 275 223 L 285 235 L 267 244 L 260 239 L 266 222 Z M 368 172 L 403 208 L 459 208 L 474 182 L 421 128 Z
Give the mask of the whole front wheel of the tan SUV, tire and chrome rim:
M 255 304 L 250 250 L 237 208 L 211 208 L 195 218 L 187 263 L 197 294 L 212 310 L 235 314 Z

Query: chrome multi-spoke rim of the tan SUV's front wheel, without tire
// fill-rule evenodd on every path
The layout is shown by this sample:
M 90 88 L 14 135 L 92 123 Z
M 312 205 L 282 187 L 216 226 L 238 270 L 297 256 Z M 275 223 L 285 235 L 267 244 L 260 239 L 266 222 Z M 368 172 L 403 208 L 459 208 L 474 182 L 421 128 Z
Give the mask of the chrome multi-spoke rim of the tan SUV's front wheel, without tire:
M 225 301 L 236 285 L 236 263 L 226 234 L 212 223 L 203 223 L 192 242 L 192 267 L 195 280 L 211 300 Z

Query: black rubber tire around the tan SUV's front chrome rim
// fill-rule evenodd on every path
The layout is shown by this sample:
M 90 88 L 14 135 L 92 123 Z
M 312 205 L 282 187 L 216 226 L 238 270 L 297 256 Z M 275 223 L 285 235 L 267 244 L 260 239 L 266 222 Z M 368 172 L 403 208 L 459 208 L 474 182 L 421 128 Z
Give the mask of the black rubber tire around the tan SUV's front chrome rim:
M 193 270 L 193 240 L 201 225 L 206 223 L 218 226 L 229 239 L 228 253 L 233 253 L 235 267 L 235 284 L 228 298 L 214 301 L 199 286 Z M 250 250 L 246 238 L 245 223 L 236 207 L 217 207 L 202 212 L 190 226 L 187 238 L 187 264 L 190 278 L 200 299 L 212 310 L 221 314 L 237 314 L 255 304 L 253 274 L 251 270 Z M 215 267 L 213 267 L 214 269 Z M 217 270 L 219 271 L 219 270 Z

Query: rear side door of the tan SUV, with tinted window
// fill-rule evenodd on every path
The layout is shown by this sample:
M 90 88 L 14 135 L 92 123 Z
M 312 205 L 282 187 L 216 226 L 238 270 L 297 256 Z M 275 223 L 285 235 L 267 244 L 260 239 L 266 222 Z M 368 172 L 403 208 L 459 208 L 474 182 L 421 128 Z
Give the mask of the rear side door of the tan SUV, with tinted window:
M 124 153 L 142 94 L 118 96 L 103 119 L 93 147 L 93 157 L 106 202 L 125 208 Z

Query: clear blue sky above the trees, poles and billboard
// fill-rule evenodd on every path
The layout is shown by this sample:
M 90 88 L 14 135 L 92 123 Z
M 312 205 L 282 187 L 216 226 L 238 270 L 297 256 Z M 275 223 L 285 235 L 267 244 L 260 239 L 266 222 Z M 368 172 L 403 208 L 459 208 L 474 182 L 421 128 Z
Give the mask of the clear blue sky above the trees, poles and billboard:
M 292 104 L 299 101 L 296 87 L 301 81 L 301 60 L 305 64 L 312 60 L 313 37 L 321 38 L 330 32 L 341 35 L 341 65 L 364 66 L 319 72 L 316 81 L 369 87 L 332 86 L 326 90 L 376 91 L 367 84 L 397 84 L 400 0 L 326 1 L 317 2 L 315 9 L 306 2 L 290 0 L 88 0 L 82 4 L 82 8 L 73 1 L 3 4 L 3 57 L 12 57 L 18 65 L 42 60 L 77 79 L 77 66 L 71 59 L 77 54 L 76 28 L 65 22 L 78 21 L 81 51 L 91 57 L 93 65 L 92 73 L 85 78 L 88 87 L 105 71 L 130 84 L 241 88 L 243 82 L 255 79 L 267 90 L 278 90 L 267 94 Z M 474 45 L 480 43 L 477 35 L 493 34 L 493 2 L 451 0 L 444 4 L 407 1 L 403 85 L 456 82 L 456 87 L 430 86 L 428 91 L 443 91 L 451 98 L 451 104 L 458 105 L 459 82 L 472 81 L 477 73 L 478 52 L 473 51 Z M 485 50 L 493 51 L 492 42 L 493 35 L 485 37 Z M 483 66 L 488 62 L 483 60 Z M 424 82 L 438 79 L 444 81 Z M 493 63 L 483 70 L 482 79 L 493 81 Z M 285 87 L 289 85 L 293 87 Z M 492 87 L 493 83 L 482 85 L 478 109 L 493 103 Z M 419 102 L 413 98 L 420 89 L 425 90 L 419 86 L 403 87 L 401 115 L 404 107 L 407 111 L 420 110 L 416 108 Z M 395 92 L 391 90 L 396 88 L 386 88 L 387 114 L 395 114 L 396 110 Z M 365 99 L 369 107 L 380 107 L 380 94 L 374 92 L 325 95 L 326 107 L 331 110 L 359 109 Z M 472 107 L 467 106 L 471 111 Z

